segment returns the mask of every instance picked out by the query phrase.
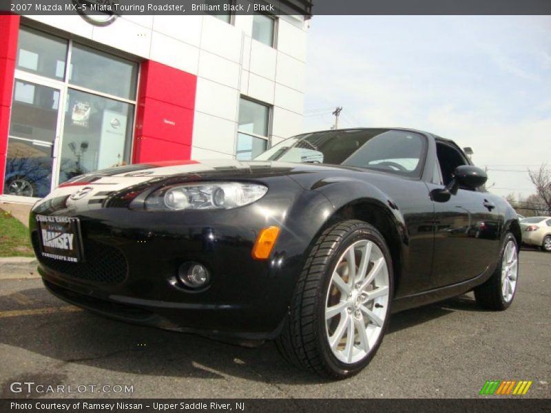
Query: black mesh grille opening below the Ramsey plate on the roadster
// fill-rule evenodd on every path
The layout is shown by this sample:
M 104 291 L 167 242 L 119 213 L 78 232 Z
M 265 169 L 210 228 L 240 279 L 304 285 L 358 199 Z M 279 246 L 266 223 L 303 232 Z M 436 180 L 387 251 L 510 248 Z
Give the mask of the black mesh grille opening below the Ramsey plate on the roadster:
M 103 284 L 119 284 L 123 282 L 128 273 L 125 256 L 121 251 L 107 244 L 92 240 L 84 240 L 85 262 L 67 262 L 42 257 L 39 248 L 39 234 L 32 233 L 32 246 L 38 260 L 43 266 L 54 271 L 87 281 L 101 282 Z

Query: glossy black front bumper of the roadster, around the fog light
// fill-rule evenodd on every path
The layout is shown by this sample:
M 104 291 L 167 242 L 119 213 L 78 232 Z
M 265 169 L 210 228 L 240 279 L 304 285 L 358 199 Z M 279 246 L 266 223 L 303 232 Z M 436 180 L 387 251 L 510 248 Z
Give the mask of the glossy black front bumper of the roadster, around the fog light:
M 81 222 L 85 262 L 40 257 L 35 221 L 30 231 L 43 282 L 77 306 L 137 324 L 202 335 L 262 340 L 278 335 L 305 254 L 331 205 L 314 191 L 269 195 L 224 211 L 146 212 L 127 208 L 68 211 Z M 43 214 L 43 212 L 41 212 Z M 318 222 L 319 221 L 319 222 Z M 253 260 L 258 231 L 280 226 L 269 260 Z M 178 267 L 207 266 L 211 284 L 189 290 L 175 282 Z

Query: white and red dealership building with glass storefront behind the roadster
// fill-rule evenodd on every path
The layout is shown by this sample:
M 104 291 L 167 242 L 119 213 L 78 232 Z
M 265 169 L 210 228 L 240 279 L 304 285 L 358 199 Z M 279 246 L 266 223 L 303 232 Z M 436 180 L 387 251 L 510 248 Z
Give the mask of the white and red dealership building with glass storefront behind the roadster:
M 249 160 L 300 133 L 309 10 L 294 10 L 0 15 L 0 200 L 116 165 Z

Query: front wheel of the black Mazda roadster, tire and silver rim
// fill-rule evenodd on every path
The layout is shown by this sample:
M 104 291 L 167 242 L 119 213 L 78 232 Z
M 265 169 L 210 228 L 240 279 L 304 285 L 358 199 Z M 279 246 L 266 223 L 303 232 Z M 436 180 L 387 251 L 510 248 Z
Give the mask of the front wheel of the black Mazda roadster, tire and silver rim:
M 379 231 L 358 220 L 335 224 L 309 253 L 276 339 L 278 350 L 295 366 L 322 377 L 351 377 L 377 352 L 391 297 L 392 260 Z

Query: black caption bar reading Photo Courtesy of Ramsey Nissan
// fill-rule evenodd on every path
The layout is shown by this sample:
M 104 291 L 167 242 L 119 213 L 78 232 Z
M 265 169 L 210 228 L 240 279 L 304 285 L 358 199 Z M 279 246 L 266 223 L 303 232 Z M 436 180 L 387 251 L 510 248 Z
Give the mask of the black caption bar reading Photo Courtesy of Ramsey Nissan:
M 84 407 L 96 403 L 98 408 Z M 58 406 L 48 408 L 48 406 Z M 113 408 L 105 407 L 113 406 Z M 141 407 L 136 408 L 136 406 Z M 22 407 L 27 406 L 27 407 Z M 100 407 L 103 406 L 103 407 Z M 147 406 L 147 407 L 146 407 Z M 159 408 L 162 406 L 163 408 Z M 68 408 L 67 408 L 68 407 Z M 539 413 L 547 399 L 0 399 L 3 413 Z

